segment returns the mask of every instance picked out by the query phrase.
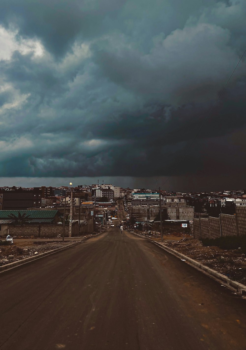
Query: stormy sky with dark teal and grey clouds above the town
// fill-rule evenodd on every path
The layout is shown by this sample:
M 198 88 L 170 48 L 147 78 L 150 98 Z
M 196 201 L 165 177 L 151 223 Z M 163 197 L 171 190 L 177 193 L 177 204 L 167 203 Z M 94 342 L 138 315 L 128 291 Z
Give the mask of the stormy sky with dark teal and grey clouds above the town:
M 245 0 L 1 0 L 0 186 L 246 187 L 246 55 L 173 172 L 245 18 Z

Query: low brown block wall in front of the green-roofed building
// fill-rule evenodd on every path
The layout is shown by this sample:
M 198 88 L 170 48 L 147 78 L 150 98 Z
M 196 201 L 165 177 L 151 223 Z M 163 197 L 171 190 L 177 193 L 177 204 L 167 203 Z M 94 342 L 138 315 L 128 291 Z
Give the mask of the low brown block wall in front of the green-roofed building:
M 52 238 L 62 235 L 63 225 L 9 225 L 9 235 Z M 78 222 L 72 224 L 72 237 L 78 236 Z M 65 225 L 65 237 L 69 235 L 69 225 Z

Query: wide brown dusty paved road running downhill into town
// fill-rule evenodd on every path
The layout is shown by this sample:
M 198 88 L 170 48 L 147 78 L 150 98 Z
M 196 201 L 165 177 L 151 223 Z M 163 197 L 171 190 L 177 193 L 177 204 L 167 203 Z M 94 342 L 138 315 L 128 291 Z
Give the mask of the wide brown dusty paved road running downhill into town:
M 0 273 L 0 349 L 245 349 L 245 302 L 110 228 Z

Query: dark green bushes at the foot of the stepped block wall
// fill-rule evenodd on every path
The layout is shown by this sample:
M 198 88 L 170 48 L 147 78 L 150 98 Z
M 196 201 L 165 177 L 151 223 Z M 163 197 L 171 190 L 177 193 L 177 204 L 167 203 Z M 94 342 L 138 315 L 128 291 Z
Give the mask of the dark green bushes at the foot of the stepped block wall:
M 205 238 L 201 240 L 203 245 L 216 246 L 221 249 L 238 249 L 241 248 L 241 252 L 246 255 L 246 235 L 244 236 L 226 236 L 216 239 Z

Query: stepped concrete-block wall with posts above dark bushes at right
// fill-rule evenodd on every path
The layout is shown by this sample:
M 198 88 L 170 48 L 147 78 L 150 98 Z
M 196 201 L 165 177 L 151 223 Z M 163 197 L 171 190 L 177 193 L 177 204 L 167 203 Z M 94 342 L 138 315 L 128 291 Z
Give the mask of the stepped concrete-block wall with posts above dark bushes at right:
M 236 215 L 194 219 L 193 230 L 196 239 L 246 235 L 246 207 L 237 207 Z

